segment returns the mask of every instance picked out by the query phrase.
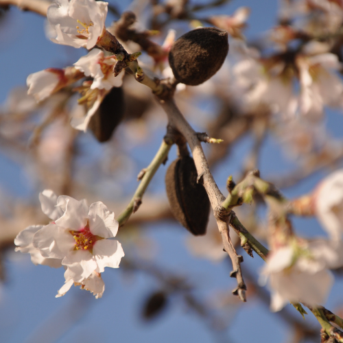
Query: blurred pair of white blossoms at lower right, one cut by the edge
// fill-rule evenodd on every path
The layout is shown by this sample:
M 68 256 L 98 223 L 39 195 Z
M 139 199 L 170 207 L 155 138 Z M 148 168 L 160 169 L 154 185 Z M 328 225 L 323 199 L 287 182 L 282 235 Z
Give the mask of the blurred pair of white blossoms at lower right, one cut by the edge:
M 269 280 L 271 309 L 279 311 L 289 301 L 321 305 L 333 285 L 330 269 L 343 265 L 343 169 L 322 180 L 310 196 L 300 200 L 309 215 L 316 215 L 329 239 L 306 240 L 274 230 L 272 251 L 261 271 Z

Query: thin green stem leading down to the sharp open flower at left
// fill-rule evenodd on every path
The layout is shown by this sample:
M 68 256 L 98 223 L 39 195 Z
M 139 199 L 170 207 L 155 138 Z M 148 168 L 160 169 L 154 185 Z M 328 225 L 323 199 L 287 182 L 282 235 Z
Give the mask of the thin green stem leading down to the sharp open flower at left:
M 167 158 L 170 147 L 170 144 L 167 144 L 165 143 L 165 141 L 163 141 L 161 147 L 158 149 L 158 152 L 154 156 L 154 159 L 152 160 L 150 165 L 145 169 L 144 176 L 141 179 L 141 182 L 139 183 L 139 186 L 137 187 L 136 191 L 134 192 L 134 196 L 132 197 L 130 203 L 128 204 L 128 206 L 126 206 L 126 209 L 124 209 L 117 217 L 117 220 L 119 222 L 119 228 L 128 221 L 130 215 L 132 215 L 134 211 L 135 204 L 138 204 L 139 206 L 141 199 L 143 198 L 143 194 L 145 193 L 147 186 L 150 184 L 150 181 L 155 175 L 158 167 L 160 167 L 160 165 Z

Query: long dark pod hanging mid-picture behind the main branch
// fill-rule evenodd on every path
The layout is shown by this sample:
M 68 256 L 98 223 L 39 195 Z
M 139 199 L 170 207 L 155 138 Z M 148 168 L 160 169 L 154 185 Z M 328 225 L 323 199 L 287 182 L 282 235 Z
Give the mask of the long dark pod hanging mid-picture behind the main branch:
M 210 210 L 209 197 L 197 178 L 196 165 L 190 156 L 182 156 L 171 163 L 165 175 L 171 213 L 196 236 L 206 233 Z

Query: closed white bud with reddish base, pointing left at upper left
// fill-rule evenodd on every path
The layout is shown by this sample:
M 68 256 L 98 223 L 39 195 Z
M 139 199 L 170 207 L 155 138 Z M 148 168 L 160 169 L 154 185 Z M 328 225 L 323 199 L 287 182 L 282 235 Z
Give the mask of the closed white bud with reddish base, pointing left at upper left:
M 41 102 L 61 88 L 82 78 L 83 73 L 74 67 L 66 69 L 49 68 L 29 74 L 26 84 L 27 94 L 33 95 L 36 102 Z

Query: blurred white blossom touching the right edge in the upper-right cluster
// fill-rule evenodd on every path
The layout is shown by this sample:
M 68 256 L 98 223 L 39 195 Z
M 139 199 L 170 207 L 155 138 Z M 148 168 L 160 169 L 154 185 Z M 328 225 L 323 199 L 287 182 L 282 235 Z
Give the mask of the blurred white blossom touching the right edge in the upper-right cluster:
M 335 74 L 341 67 L 334 54 L 298 55 L 300 113 L 320 117 L 324 106 L 342 108 L 343 83 Z

